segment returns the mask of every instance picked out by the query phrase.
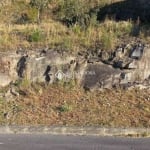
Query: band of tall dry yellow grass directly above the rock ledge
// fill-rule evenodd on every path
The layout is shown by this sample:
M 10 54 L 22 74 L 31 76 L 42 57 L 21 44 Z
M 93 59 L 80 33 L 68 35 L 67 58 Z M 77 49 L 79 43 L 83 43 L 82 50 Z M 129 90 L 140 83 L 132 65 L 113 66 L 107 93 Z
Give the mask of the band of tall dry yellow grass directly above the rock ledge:
M 38 30 L 41 40 L 29 41 L 29 37 Z M 30 49 L 34 47 L 62 47 L 68 50 L 87 49 L 101 44 L 102 48 L 113 49 L 119 37 L 129 35 L 132 23 L 106 20 L 104 23 L 89 26 L 84 30 L 79 25 L 67 28 L 59 22 L 50 20 L 47 23 L 6 25 L 0 24 L 0 49 L 16 50 L 19 47 Z

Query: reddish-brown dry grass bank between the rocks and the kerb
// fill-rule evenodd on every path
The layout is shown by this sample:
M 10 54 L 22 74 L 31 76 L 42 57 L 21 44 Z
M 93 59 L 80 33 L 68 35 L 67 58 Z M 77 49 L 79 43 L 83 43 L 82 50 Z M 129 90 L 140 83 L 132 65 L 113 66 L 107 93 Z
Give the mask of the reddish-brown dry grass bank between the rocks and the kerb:
M 0 124 L 150 127 L 147 90 L 84 93 L 79 88 L 53 85 L 44 90 L 36 85 L 26 92 L 14 102 L 0 101 Z

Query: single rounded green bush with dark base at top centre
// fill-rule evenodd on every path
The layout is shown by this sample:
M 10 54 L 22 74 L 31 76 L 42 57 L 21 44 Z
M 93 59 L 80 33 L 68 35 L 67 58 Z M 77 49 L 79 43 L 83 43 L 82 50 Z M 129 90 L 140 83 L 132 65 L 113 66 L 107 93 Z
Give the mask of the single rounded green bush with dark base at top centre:
M 87 25 L 88 11 L 87 3 L 83 0 L 62 0 L 56 13 L 58 18 L 68 26 L 73 24 Z

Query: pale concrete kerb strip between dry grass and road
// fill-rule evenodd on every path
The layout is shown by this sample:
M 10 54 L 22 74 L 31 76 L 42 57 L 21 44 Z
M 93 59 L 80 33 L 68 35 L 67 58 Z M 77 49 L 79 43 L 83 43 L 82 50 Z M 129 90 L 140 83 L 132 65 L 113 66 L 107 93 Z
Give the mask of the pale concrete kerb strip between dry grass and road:
M 82 135 L 82 136 L 150 137 L 150 128 L 1 126 L 0 134 L 51 134 L 51 135 Z

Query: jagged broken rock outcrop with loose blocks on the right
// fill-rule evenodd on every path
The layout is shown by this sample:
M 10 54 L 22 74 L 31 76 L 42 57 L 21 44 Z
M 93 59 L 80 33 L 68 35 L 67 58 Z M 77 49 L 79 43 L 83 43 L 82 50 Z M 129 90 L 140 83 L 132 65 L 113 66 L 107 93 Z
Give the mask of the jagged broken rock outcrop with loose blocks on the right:
M 112 52 L 98 50 L 87 60 L 88 72 L 95 74 L 84 75 L 83 87 L 86 89 L 118 86 L 123 88 L 149 87 L 149 57 L 149 46 L 140 41 L 120 45 Z

